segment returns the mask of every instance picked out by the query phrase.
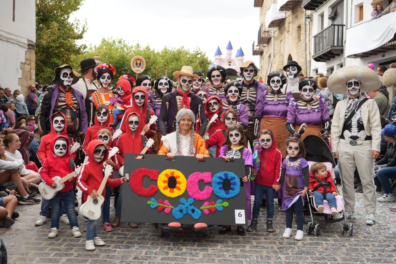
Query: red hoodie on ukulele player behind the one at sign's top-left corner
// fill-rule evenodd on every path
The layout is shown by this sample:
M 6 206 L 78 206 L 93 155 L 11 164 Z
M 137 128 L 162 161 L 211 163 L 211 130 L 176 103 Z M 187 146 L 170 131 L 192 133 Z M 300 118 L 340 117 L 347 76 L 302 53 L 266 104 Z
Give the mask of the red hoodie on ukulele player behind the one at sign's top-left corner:
M 139 91 L 145 93 L 145 104 L 143 105 L 142 110 L 139 109 L 139 106 L 137 106 L 137 104 L 135 103 L 135 101 L 133 99 L 135 97 L 135 92 L 139 92 Z M 124 132 L 124 133 L 127 132 L 128 130 L 130 130 L 128 127 L 128 118 L 126 118 L 126 116 L 128 116 L 129 113 L 134 112 L 139 115 L 140 122 L 143 123 L 142 126 L 140 126 L 141 123 L 139 123 L 139 128 L 138 128 L 139 131 L 136 131 L 137 133 L 140 134 L 140 132 L 142 132 L 142 130 L 143 130 L 143 126 L 145 126 L 147 124 L 147 120 L 150 119 L 150 117 L 152 117 L 154 115 L 154 111 L 147 109 L 147 106 L 148 106 L 147 92 L 143 86 L 138 86 L 138 87 L 135 87 L 135 89 L 133 89 L 132 100 L 133 100 L 133 105 L 131 107 L 129 107 L 128 110 L 126 110 L 124 117 L 122 118 L 120 128 L 121 128 L 122 132 Z M 150 113 L 150 116 L 147 118 L 148 111 Z M 150 134 L 146 133 L 145 136 L 147 136 L 148 138 L 152 138 L 154 136 L 156 130 L 157 130 L 157 127 L 156 127 L 156 123 L 154 122 L 150 126 Z

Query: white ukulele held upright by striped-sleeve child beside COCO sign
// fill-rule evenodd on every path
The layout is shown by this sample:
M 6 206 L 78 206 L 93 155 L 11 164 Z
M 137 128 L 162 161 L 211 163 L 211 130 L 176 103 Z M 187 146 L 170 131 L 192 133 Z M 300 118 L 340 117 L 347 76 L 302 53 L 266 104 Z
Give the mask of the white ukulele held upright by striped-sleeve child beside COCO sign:
M 105 177 L 102 180 L 99 189 L 97 190 L 98 197 L 92 198 L 88 195 L 87 201 L 80 206 L 80 214 L 90 220 L 99 219 L 102 214 L 102 204 L 105 201 L 105 197 L 102 196 L 103 189 L 105 189 L 107 179 L 113 171 L 113 167 L 110 164 L 106 165 Z

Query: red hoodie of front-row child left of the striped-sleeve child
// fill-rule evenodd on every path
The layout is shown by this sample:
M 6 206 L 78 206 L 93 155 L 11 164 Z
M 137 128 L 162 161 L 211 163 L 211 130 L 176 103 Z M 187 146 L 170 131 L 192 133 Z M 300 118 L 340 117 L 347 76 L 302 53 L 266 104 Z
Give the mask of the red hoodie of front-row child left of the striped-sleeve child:
M 65 138 L 67 141 L 67 149 L 70 149 L 70 142 L 67 136 L 59 135 L 55 136 L 52 140 L 50 145 L 51 149 L 51 155 L 46 158 L 46 160 L 43 163 L 43 167 L 41 168 L 40 171 L 40 177 L 42 181 L 44 181 L 47 185 L 51 186 L 53 183 L 53 177 L 59 176 L 61 178 L 65 177 L 67 174 L 72 172 L 72 168 L 70 167 L 70 151 L 66 151 L 65 156 L 63 157 L 58 157 L 55 155 L 55 152 L 53 150 L 55 146 L 55 141 L 58 138 Z M 77 175 L 74 176 L 74 179 L 77 177 Z M 74 181 L 74 180 L 73 180 Z M 65 188 L 60 190 L 59 192 L 68 192 L 73 188 L 73 181 L 65 181 Z

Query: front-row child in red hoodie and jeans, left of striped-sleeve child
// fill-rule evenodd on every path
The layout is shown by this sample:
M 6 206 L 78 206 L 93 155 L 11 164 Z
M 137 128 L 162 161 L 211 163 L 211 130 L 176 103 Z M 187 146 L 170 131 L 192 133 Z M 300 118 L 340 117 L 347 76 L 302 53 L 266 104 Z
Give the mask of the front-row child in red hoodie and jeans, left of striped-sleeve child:
M 70 158 L 69 149 L 70 142 L 67 137 L 58 135 L 52 139 L 51 156 L 46 158 L 40 171 L 41 179 L 52 188 L 55 188 L 57 185 L 52 177 L 59 176 L 63 178 L 74 170 L 74 168 L 71 168 L 71 166 L 74 167 L 74 162 L 73 159 Z M 75 238 L 79 238 L 81 236 L 80 230 L 78 229 L 76 211 L 74 210 L 73 181 L 75 178 L 76 175 L 66 181 L 64 183 L 65 188 L 60 190 L 54 198 L 49 200 L 52 207 L 52 215 L 51 230 L 49 231 L 48 238 L 55 238 L 58 234 L 62 203 L 65 206 L 65 211 L 69 218 L 73 236 Z

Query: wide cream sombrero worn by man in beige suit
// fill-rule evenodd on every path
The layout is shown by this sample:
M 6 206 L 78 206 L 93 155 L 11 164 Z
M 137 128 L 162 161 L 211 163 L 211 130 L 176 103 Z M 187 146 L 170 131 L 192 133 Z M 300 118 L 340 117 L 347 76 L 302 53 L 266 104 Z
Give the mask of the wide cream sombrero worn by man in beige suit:
M 327 87 L 335 94 L 345 94 L 346 82 L 358 79 L 362 83 L 361 92 L 371 92 L 379 89 L 381 80 L 370 68 L 362 65 L 350 65 L 333 72 L 327 80 Z

